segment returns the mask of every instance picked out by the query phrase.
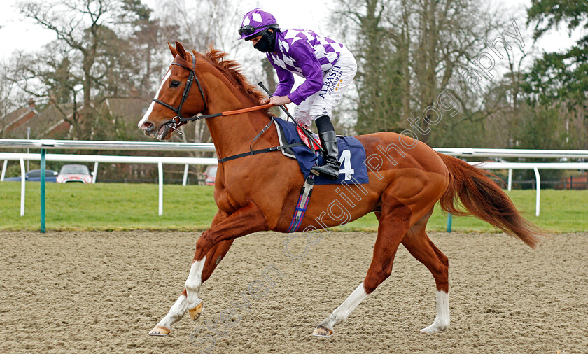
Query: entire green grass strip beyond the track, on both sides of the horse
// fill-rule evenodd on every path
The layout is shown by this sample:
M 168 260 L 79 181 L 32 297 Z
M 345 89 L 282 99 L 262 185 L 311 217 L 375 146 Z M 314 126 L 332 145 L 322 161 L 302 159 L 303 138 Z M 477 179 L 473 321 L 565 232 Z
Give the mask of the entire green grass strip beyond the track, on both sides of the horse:
M 26 188 L 25 216 L 20 217 L 20 183 L 0 183 L 0 229 L 38 230 L 40 227 L 40 184 Z M 213 187 L 164 185 L 163 215 L 158 216 L 158 185 L 97 183 L 83 185 L 48 183 L 46 229 L 54 230 L 203 230 L 216 213 Z M 541 215 L 535 217 L 535 191 L 509 192 L 526 218 L 552 232 L 588 231 L 588 190 L 542 190 Z M 435 208 L 428 229 L 444 231 L 447 215 Z M 373 213 L 336 227 L 339 231 L 374 231 Z M 454 231 L 492 231 L 477 218 L 453 218 Z

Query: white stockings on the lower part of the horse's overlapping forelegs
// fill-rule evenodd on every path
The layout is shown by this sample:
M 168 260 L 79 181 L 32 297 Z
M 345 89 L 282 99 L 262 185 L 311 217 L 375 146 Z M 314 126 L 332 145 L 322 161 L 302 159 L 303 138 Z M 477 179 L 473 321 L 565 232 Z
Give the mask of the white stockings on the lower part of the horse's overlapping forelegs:
M 204 269 L 204 262 L 206 262 L 206 260 L 207 257 L 204 257 L 202 260 L 192 263 L 192 267 L 190 267 L 190 275 L 188 275 L 188 279 L 186 280 L 186 293 L 188 294 L 188 297 L 183 294 L 180 295 L 172 306 L 172 309 L 169 309 L 167 315 L 160 320 L 158 325 L 171 330 L 172 325 L 181 320 L 186 311 L 193 309 L 197 304 L 202 302 L 202 300 L 198 298 L 198 290 L 200 289 L 200 285 L 202 285 L 202 269 Z

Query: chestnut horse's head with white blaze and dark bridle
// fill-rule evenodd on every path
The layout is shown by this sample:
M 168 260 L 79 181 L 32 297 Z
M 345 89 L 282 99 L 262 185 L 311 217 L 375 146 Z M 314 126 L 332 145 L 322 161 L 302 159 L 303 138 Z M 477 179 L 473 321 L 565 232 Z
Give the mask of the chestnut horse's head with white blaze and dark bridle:
M 138 124 L 145 135 L 159 140 L 172 137 L 176 127 L 183 124 L 179 122 L 180 118 L 202 113 L 207 108 L 204 91 L 195 73 L 196 53 L 186 52 L 179 42 L 176 42 L 175 48 L 169 43 L 167 45 L 174 61 Z

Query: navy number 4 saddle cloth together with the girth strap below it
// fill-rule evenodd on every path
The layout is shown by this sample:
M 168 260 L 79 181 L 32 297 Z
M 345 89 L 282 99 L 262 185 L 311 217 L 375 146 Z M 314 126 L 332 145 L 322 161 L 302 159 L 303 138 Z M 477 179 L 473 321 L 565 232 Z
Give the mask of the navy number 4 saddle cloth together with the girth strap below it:
M 279 132 L 278 137 L 280 139 L 280 145 L 293 145 L 300 143 L 301 141 L 305 145 L 293 146 L 291 148 L 281 150 L 283 155 L 293 157 L 297 160 L 300 171 L 304 175 L 304 185 L 300 190 L 300 197 L 296 204 L 290 227 L 286 232 L 296 232 L 302 224 L 304 213 L 310 196 L 312 194 L 312 188 L 315 184 L 326 185 L 326 184 L 340 184 L 340 183 L 351 183 L 351 184 L 364 184 L 369 183 L 367 178 L 367 167 L 365 166 L 365 148 L 361 145 L 358 139 L 353 136 L 337 136 L 337 146 L 339 146 L 339 162 L 341 167 L 339 168 L 339 178 L 337 180 L 331 180 L 323 176 L 314 176 L 310 173 L 311 168 L 314 164 L 321 165 L 323 163 L 323 156 L 318 151 L 312 153 L 309 144 L 309 139 L 304 136 L 304 133 L 300 131 L 300 128 L 296 127 L 294 123 L 286 122 L 280 118 L 274 118 L 274 123 Z M 297 130 L 298 129 L 298 130 Z M 317 137 L 314 134 L 315 138 Z M 315 139 L 318 141 L 318 139 Z M 318 149 L 318 146 L 315 146 Z

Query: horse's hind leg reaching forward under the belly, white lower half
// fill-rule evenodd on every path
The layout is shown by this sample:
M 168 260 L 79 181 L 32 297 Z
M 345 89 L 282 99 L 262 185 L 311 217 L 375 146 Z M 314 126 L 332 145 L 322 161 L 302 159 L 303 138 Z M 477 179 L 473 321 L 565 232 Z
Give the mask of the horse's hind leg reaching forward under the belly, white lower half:
M 370 269 L 367 270 L 363 283 L 353 290 L 343 304 L 337 307 L 328 318 L 318 324 L 313 332 L 315 336 L 330 336 L 333 327 L 346 320 L 351 311 L 392 273 L 396 250 L 398 250 L 402 237 L 409 229 L 411 211 L 393 197 L 384 198 L 386 197 L 383 197 L 382 211 L 378 217 L 378 236 Z

